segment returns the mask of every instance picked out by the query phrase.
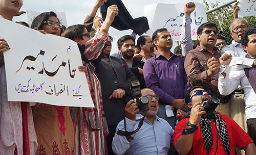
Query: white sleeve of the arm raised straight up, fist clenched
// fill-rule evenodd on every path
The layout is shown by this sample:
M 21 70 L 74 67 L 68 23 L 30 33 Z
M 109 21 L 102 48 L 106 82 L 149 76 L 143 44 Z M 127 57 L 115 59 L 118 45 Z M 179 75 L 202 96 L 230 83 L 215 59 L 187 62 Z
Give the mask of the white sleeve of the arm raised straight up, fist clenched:
M 185 56 L 189 50 L 193 49 L 191 38 L 190 16 L 184 16 L 181 27 L 181 53 Z

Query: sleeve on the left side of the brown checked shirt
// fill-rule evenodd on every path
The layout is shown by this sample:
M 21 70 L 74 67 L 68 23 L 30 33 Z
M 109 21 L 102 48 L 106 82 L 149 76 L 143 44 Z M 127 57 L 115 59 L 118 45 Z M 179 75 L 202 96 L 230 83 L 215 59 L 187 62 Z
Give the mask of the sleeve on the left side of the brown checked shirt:
M 188 80 L 191 86 L 207 86 L 209 85 L 209 80 L 207 76 L 207 70 L 200 71 L 200 63 L 196 56 L 189 52 L 185 57 L 184 66 Z

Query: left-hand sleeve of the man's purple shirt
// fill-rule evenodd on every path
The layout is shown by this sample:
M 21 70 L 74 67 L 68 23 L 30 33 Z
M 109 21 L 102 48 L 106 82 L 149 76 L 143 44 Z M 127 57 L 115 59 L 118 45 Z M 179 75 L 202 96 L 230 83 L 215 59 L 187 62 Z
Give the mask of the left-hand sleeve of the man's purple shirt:
M 170 105 L 174 100 L 174 97 L 158 87 L 158 77 L 155 72 L 155 65 L 152 60 L 153 59 L 147 60 L 143 66 L 143 74 L 146 87 L 154 90 L 158 97 L 160 97 L 166 104 Z

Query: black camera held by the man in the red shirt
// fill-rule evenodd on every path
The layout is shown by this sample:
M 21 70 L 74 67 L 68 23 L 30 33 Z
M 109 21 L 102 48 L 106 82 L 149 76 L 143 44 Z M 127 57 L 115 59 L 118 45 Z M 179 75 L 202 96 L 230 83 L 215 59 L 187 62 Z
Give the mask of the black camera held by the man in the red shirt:
M 220 99 L 215 96 L 211 96 L 208 101 L 202 103 L 206 114 L 202 115 L 202 118 L 214 118 L 214 110 L 220 104 Z

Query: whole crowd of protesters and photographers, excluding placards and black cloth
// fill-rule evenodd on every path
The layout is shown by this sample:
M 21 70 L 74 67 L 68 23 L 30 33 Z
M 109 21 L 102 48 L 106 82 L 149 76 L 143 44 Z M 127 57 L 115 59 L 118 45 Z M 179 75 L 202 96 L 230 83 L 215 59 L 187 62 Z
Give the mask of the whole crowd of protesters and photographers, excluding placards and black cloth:
M 256 28 L 238 18 L 239 2 L 230 45 L 210 21 L 193 45 L 196 5 L 188 2 L 174 53 L 172 35 L 159 28 L 137 44 L 120 37 L 111 56 L 118 6 L 104 20 L 96 16 L 107 1 L 96 0 L 83 24 L 66 29 L 44 12 L 30 27 L 77 43 L 94 108 L 8 101 L 4 53 L 11 47 L 0 37 L 0 154 L 256 154 Z M 0 0 L 0 18 L 12 21 L 22 6 Z

